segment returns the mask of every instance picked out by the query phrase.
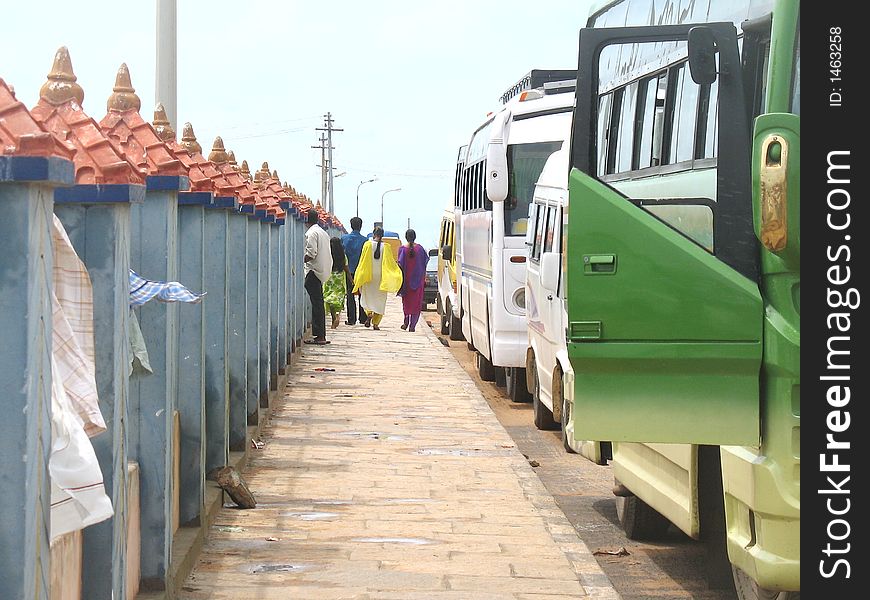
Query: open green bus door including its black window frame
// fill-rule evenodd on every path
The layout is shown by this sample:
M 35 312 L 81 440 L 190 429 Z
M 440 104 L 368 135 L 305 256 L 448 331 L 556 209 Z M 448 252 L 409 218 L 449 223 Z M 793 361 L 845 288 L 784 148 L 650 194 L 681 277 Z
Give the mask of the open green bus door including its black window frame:
M 719 81 L 714 252 L 595 178 L 602 50 L 685 43 L 692 27 L 581 31 L 567 240 L 576 439 L 759 444 L 763 306 L 731 23 L 703 26 Z

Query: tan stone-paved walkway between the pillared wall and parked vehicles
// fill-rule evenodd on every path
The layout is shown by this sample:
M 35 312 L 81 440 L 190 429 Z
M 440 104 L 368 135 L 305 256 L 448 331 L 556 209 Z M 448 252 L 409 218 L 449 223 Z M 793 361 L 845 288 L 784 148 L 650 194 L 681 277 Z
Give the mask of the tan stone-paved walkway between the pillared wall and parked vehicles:
M 618 598 L 468 375 L 401 312 L 305 347 L 244 473 L 258 506 L 221 511 L 181 598 Z

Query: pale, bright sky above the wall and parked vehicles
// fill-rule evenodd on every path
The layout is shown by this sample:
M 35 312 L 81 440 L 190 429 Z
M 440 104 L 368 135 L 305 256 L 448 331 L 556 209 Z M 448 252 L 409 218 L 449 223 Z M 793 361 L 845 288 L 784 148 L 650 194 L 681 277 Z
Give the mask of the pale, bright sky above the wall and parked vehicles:
M 459 146 L 531 69 L 573 69 L 590 0 L 178 0 L 178 123 L 208 155 L 221 136 L 321 196 L 319 131 L 332 113 L 335 212 L 434 247 Z M 121 63 L 151 121 L 156 0 L 4 2 L 0 77 L 33 107 L 69 48 L 83 107 L 102 119 Z M 359 185 L 377 177 L 377 181 Z M 401 188 L 395 192 L 385 192 Z

